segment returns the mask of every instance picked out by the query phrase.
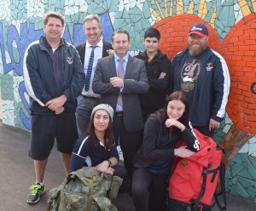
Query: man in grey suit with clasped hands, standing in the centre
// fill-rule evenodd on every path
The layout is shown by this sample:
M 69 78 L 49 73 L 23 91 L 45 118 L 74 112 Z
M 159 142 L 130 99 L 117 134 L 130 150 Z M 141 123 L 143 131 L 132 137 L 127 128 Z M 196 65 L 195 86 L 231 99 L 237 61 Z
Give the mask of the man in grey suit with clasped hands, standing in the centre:
M 131 178 L 133 158 L 139 147 L 139 131 L 143 129 L 143 114 L 139 94 L 148 91 L 148 78 L 143 60 L 128 54 L 131 46 L 127 31 L 114 31 L 114 54 L 98 60 L 92 83 L 93 91 L 102 94 L 100 103 L 114 108 L 113 132 L 123 151 L 125 168 Z

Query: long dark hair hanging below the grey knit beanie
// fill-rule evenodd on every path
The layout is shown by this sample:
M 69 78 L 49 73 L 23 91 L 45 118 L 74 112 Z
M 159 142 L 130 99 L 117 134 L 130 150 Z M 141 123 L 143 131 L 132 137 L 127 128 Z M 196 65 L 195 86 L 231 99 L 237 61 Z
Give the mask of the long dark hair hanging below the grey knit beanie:
M 90 123 L 88 125 L 88 128 L 84 132 L 84 137 L 90 135 L 90 139 L 91 139 L 92 145 L 96 149 L 100 149 L 98 141 L 97 141 L 97 138 L 96 138 L 95 127 L 94 127 L 94 123 L 93 123 L 94 122 L 95 114 L 96 114 L 96 112 L 94 112 L 94 114 L 90 118 Z M 108 115 L 108 117 L 109 117 L 109 115 Z M 109 117 L 108 128 L 106 129 L 105 134 L 104 134 L 104 146 L 105 146 L 106 150 L 109 150 L 110 146 L 113 145 L 113 144 L 114 144 L 114 140 L 113 140 L 113 123 L 112 123 L 111 117 Z

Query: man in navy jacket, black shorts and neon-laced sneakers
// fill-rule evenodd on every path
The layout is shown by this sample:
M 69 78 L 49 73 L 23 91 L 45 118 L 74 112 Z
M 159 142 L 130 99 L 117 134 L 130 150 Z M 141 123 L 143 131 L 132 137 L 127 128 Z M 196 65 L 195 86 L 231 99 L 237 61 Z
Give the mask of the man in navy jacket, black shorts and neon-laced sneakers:
M 78 138 L 75 109 L 84 86 L 84 72 L 77 50 L 61 38 L 63 29 L 61 14 L 44 14 L 44 36 L 32 43 L 24 56 L 24 81 L 32 115 L 29 157 L 36 174 L 28 203 L 38 202 L 44 192 L 44 171 L 55 139 L 68 174 L 73 144 Z

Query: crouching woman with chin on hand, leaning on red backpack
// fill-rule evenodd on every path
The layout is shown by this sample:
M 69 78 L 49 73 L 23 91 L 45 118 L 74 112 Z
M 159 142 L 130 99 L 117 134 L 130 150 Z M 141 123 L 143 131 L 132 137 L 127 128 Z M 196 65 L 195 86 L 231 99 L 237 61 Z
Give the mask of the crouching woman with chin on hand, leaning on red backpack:
M 183 139 L 187 146 L 175 148 Z M 172 158 L 189 157 L 200 144 L 189 123 L 189 105 L 181 91 L 172 93 L 166 106 L 148 117 L 143 145 L 137 151 L 132 178 L 132 198 L 137 211 L 161 211 Z M 149 200 L 147 193 L 149 191 Z

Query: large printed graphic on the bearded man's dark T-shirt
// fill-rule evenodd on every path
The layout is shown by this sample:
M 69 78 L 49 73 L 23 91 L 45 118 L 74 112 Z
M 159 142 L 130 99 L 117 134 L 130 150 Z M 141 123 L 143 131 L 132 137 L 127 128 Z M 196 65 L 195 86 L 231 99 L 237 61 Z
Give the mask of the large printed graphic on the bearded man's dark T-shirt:
M 194 88 L 200 71 L 201 63 L 198 60 L 192 60 L 183 65 L 181 71 L 181 88 L 184 92 L 189 92 Z

